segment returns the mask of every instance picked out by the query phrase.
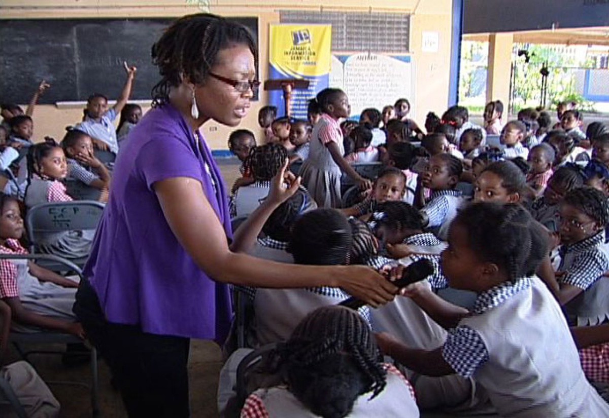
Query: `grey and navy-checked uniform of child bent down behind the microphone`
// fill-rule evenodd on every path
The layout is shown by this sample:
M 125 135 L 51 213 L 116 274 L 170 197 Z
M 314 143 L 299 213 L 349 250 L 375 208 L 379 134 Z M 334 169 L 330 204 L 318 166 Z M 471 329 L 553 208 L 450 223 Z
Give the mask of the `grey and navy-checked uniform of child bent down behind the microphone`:
M 428 256 L 411 255 L 400 260 L 408 266 L 426 258 L 434 265 L 434 274 L 424 280 L 425 286 L 437 290 L 446 287 L 446 278 L 440 269 L 440 252 L 446 244 L 431 233 L 423 233 L 404 239 L 404 244 L 415 247 L 418 252 L 429 252 Z M 446 331 L 435 323 L 423 309 L 410 298 L 395 298 L 393 301 L 371 310 L 372 327 L 376 332 L 389 332 L 402 343 L 412 348 L 432 350 L 442 345 Z

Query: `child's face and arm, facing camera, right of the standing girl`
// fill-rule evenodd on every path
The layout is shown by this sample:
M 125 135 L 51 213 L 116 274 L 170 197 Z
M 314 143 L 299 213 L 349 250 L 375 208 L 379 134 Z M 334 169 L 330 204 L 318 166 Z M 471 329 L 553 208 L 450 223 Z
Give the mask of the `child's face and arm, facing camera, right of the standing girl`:
M 356 216 L 357 218 L 365 216 L 365 220 L 367 220 L 379 203 L 389 200 L 402 200 L 404 193 L 406 193 L 406 176 L 404 176 L 404 173 L 398 168 L 384 168 L 376 178 L 371 193 L 364 200 L 340 211 L 347 216 Z

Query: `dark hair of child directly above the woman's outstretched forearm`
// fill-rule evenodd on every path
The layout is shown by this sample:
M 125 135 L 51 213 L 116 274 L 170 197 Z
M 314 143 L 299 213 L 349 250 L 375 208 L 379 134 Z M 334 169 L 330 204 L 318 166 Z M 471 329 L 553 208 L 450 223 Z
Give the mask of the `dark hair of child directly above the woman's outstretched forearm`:
M 296 264 L 339 266 L 347 264 L 353 244 L 347 217 L 335 209 L 315 209 L 294 225 L 287 252 Z

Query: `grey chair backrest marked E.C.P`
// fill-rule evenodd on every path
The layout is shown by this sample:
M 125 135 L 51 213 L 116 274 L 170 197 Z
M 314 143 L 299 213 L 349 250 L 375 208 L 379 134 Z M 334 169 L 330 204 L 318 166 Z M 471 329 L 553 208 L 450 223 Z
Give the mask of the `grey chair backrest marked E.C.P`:
M 104 211 L 104 204 L 93 200 L 49 202 L 27 210 L 26 230 L 30 242 L 41 233 L 94 230 Z

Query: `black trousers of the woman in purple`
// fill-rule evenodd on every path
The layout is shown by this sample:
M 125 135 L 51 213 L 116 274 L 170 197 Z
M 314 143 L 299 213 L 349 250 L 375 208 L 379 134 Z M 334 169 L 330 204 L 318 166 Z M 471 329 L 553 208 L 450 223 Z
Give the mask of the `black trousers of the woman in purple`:
M 80 282 L 74 313 L 110 366 L 130 417 L 190 416 L 189 338 L 147 334 L 139 326 L 108 322 L 86 280 Z

